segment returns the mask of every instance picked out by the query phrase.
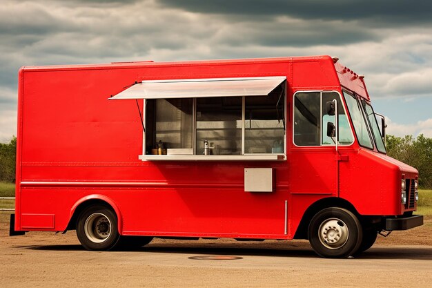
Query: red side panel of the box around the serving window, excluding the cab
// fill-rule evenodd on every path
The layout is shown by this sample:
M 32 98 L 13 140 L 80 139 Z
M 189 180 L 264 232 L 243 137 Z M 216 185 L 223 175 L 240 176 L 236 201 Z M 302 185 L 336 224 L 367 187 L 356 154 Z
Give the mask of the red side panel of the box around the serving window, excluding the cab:
M 143 79 L 288 76 L 288 63 L 26 70 L 19 205 L 27 216 L 18 225 L 48 229 L 43 215 L 55 215 L 52 230 L 61 231 L 72 207 L 99 195 L 118 207 L 125 234 L 288 237 L 288 162 L 142 162 L 135 101 L 108 100 Z M 245 192 L 246 167 L 275 169 L 274 191 Z

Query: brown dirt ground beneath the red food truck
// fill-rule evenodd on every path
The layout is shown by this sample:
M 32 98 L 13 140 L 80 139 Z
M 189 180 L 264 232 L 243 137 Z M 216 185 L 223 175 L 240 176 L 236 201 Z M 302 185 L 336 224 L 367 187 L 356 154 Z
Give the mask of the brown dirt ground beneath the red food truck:
M 92 252 L 75 231 L 8 236 L 0 213 L 0 287 L 429 287 L 432 217 L 378 236 L 351 259 L 322 259 L 305 240 L 155 239 L 135 251 Z M 196 256 L 237 260 L 193 260 Z

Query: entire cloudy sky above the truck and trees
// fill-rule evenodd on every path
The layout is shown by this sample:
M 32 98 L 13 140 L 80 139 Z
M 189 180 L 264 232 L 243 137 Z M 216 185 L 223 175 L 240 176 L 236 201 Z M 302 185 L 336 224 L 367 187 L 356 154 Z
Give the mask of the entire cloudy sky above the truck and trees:
M 302 55 L 366 75 L 389 133 L 432 137 L 429 0 L 2 0 L 0 142 L 21 66 Z

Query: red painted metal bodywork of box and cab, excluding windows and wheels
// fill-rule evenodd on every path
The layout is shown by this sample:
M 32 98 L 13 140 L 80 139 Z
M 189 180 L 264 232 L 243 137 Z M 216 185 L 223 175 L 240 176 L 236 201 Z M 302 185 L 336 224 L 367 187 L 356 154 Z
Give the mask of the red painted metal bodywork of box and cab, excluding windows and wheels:
M 306 209 L 330 197 L 363 215 L 401 215 L 400 177 L 415 169 L 357 142 L 339 155 L 293 144 L 296 91 L 341 92 L 342 84 L 369 99 L 364 81 L 343 71 L 327 56 L 24 67 L 15 229 L 62 231 L 92 199 L 115 209 L 124 235 L 291 239 Z M 143 162 L 135 102 L 108 101 L 135 81 L 264 76 L 287 78 L 284 161 Z M 244 191 L 248 167 L 274 169 L 272 193 Z

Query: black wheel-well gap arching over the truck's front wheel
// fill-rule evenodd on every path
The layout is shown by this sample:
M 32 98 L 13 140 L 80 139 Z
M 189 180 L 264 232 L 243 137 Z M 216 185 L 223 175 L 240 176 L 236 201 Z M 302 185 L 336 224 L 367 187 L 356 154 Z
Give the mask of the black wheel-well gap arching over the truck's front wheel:
M 313 216 L 318 211 L 329 207 L 339 207 L 339 208 L 347 209 L 352 213 L 354 213 L 354 215 L 356 215 L 357 218 L 359 218 L 359 220 L 361 220 L 360 214 L 357 212 L 353 204 L 351 204 L 350 202 L 342 198 L 336 198 L 336 197 L 324 198 L 313 203 L 311 206 L 308 207 L 308 209 L 306 209 L 306 211 L 303 214 L 302 220 L 300 221 L 299 227 L 297 227 L 297 231 L 295 231 L 294 239 L 307 239 L 308 226 Z

